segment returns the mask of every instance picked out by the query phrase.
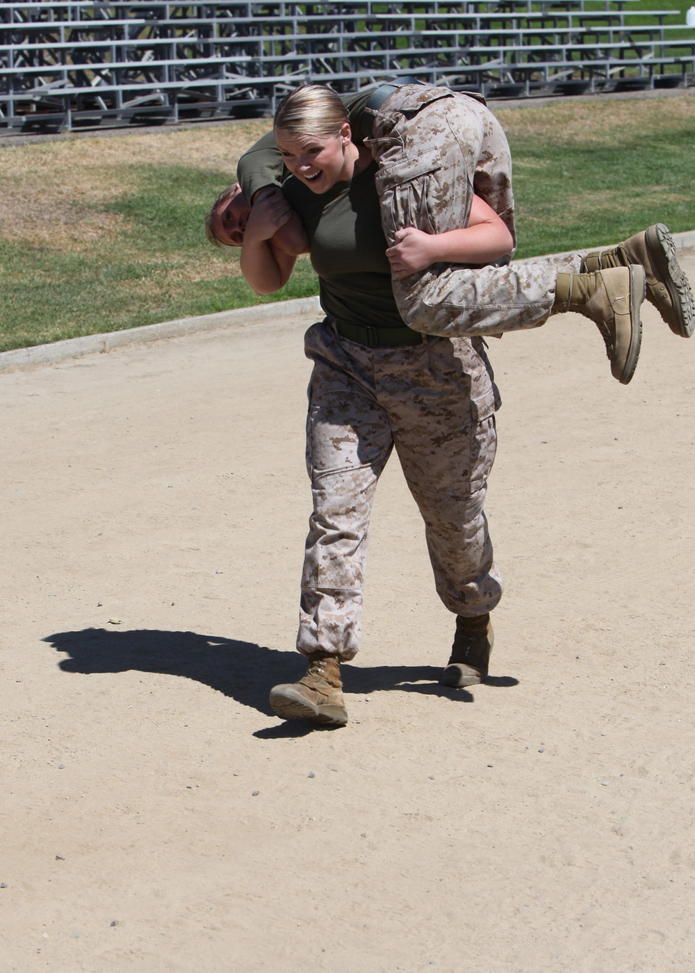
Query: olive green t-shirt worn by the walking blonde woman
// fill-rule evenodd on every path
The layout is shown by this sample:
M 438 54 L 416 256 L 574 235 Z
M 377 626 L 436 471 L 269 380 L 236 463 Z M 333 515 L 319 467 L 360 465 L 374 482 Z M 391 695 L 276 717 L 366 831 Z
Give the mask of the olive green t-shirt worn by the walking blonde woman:
M 376 171 L 371 162 L 349 182 L 320 195 L 291 176 L 282 192 L 309 234 L 311 267 L 318 274 L 326 314 L 363 327 L 403 328 L 384 252 Z

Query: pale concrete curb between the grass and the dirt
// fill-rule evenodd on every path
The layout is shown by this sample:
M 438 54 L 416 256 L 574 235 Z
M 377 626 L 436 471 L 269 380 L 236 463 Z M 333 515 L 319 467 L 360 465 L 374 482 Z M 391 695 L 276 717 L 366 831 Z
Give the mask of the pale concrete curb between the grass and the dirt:
M 674 234 L 679 253 L 695 250 L 695 230 Z M 605 244 L 612 246 L 613 244 Z M 596 248 L 598 249 L 598 248 Z M 566 251 L 554 256 L 566 256 Z M 586 252 L 586 251 L 583 251 Z M 553 256 L 548 254 L 547 256 Z M 542 257 L 529 257 L 519 263 L 542 260 Z M 270 304 L 238 307 L 235 310 L 218 311 L 216 314 L 201 314 L 198 317 L 181 317 L 161 324 L 143 325 L 141 328 L 128 328 L 125 331 L 112 331 L 104 335 L 86 335 L 84 338 L 69 338 L 64 342 L 35 344 L 28 348 L 0 352 L 0 372 L 10 369 L 28 368 L 32 365 L 55 365 L 71 358 L 100 354 L 128 344 L 159 342 L 165 338 L 181 338 L 201 331 L 215 331 L 220 328 L 243 328 L 249 324 L 272 321 L 277 317 L 295 314 L 322 313 L 318 297 L 300 298 L 296 301 L 277 301 Z

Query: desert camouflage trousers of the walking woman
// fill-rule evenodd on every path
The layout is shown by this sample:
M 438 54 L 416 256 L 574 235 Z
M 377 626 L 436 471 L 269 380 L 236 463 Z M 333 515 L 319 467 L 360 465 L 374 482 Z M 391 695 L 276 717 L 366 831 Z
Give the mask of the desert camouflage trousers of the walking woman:
M 369 518 L 395 448 L 420 508 L 438 595 L 458 615 L 491 611 L 501 576 L 483 512 L 498 393 L 480 339 L 397 348 L 311 326 L 307 467 L 313 511 L 297 648 L 351 659 L 360 646 Z

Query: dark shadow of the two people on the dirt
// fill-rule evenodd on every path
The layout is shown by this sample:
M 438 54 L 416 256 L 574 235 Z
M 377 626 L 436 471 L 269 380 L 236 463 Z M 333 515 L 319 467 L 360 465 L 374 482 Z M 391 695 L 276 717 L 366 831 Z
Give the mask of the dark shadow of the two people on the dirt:
M 140 629 L 111 631 L 84 629 L 59 631 L 44 639 L 65 653 L 58 666 L 63 672 L 159 672 L 195 679 L 238 703 L 252 706 L 266 716 L 274 712 L 268 702 L 270 687 L 295 682 L 306 671 L 297 652 L 280 652 L 254 642 L 243 642 L 196 631 Z M 439 667 L 343 666 L 347 693 L 367 695 L 384 690 L 446 696 L 473 702 L 466 690 L 437 684 Z M 511 676 L 488 677 L 492 686 L 514 686 Z

